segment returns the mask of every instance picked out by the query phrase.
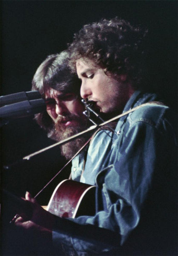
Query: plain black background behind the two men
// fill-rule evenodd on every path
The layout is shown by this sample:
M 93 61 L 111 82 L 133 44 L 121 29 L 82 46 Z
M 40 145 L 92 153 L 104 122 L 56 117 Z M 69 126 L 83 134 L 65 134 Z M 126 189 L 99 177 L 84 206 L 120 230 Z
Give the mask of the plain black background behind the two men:
M 167 104 L 177 109 L 177 1 L 0 1 L 1 95 L 31 90 L 32 77 L 49 54 L 66 49 L 84 24 L 115 16 L 150 31 L 152 68 Z M 150 76 L 152 74 L 150 73 Z M 65 163 L 54 148 L 10 169 L 3 166 L 53 142 L 31 117 L 1 128 L 1 187 L 17 195 L 35 195 Z M 66 171 L 67 175 L 69 171 Z M 61 175 L 39 197 L 47 204 Z M 66 176 L 67 177 L 67 176 Z M 9 217 L 10 218 L 10 217 Z

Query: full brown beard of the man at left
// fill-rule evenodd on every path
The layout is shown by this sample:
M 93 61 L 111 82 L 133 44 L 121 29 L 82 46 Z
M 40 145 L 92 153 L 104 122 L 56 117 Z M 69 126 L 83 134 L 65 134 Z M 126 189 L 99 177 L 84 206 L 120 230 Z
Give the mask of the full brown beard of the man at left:
M 78 134 L 81 131 L 84 131 L 89 125 L 87 124 L 87 120 L 85 116 L 77 116 L 77 115 L 68 115 L 67 119 L 74 119 L 78 121 L 78 125 L 76 126 L 64 126 L 62 124 L 62 120 L 65 118 L 60 118 L 55 123 L 55 136 L 56 140 L 65 140 L 75 134 Z M 91 134 L 86 134 L 80 138 L 72 140 L 68 143 L 65 143 L 61 146 L 61 154 L 66 158 L 66 160 L 71 159 L 79 149 L 86 143 Z

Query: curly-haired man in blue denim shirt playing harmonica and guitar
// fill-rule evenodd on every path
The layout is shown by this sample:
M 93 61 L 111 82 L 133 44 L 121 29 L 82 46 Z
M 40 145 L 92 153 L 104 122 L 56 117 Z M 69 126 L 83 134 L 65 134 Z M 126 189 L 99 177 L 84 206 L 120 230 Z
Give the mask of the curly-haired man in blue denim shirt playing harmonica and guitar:
M 32 218 L 15 224 L 36 230 L 49 246 L 53 242 L 57 255 L 176 254 L 177 122 L 149 91 L 146 33 L 125 20 L 102 19 L 83 26 L 69 45 L 82 98 L 105 119 L 126 114 L 112 134 L 107 160 L 100 159 L 93 174 L 95 215 L 59 218 L 26 195 Z M 97 140 L 100 144 L 98 134 Z M 84 180 L 93 179 L 88 166 L 96 154 L 95 147 L 87 154 Z

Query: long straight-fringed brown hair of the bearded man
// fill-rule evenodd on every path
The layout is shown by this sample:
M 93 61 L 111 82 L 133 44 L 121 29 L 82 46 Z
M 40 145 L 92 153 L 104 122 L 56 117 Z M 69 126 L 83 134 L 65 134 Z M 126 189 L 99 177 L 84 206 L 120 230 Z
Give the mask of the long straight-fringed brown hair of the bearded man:
M 49 55 L 37 68 L 32 80 L 32 90 L 38 90 L 44 97 L 46 88 L 64 93 L 75 93 L 80 98 L 80 80 L 69 67 L 69 52 Z M 47 131 L 48 137 L 55 140 L 54 122 L 47 111 L 38 113 L 34 119 Z

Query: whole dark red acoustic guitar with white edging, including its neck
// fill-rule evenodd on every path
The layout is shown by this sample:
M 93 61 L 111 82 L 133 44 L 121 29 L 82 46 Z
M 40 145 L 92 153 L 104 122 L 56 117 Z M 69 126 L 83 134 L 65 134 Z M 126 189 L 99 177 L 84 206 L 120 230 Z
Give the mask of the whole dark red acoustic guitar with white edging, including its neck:
M 55 188 L 46 210 L 62 218 L 95 215 L 95 189 L 96 186 L 89 184 L 63 180 Z M 32 208 L 29 201 L 24 201 L 6 190 L 3 192 L 4 204 L 9 204 L 23 218 L 31 218 Z

